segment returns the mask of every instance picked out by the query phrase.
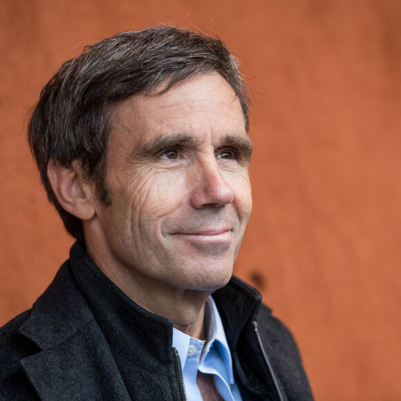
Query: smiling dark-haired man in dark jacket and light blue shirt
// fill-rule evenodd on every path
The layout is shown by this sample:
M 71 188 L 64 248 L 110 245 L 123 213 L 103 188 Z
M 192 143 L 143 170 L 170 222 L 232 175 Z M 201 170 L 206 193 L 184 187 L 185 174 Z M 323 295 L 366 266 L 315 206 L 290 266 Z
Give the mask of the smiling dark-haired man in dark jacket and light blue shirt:
M 252 208 L 248 95 L 171 26 L 66 62 L 28 129 L 77 242 L 0 331 L 1 400 L 311 400 L 288 330 L 232 277 Z

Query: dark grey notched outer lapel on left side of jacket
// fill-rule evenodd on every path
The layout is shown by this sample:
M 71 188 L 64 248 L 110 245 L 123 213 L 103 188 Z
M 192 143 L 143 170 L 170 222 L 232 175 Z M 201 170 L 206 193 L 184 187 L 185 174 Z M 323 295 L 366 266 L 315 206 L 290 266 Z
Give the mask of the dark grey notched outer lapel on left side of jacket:
M 69 262 L 32 306 L 19 333 L 41 349 L 21 360 L 41 400 L 57 400 L 60 394 L 71 400 L 131 400 Z

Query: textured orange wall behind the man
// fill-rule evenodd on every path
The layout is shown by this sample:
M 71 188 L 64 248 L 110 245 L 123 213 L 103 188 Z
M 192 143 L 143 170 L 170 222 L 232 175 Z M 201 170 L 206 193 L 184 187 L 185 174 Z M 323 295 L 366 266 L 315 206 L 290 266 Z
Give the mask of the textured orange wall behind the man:
M 318 400 L 401 400 L 399 0 L 0 0 L 0 324 L 72 240 L 25 121 L 64 60 L 158 22 L 216 32 L 254 91 L 254 212 L 235 269 L 290 326 Z

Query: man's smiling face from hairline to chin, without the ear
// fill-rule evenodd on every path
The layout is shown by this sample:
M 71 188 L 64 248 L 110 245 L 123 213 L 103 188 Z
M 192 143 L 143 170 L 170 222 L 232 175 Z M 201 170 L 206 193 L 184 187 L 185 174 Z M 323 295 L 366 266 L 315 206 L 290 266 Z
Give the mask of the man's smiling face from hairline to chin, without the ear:
M 112 205 L 96 206 L 103 262 L 155 289 L 224 286 L 252 208 L 251 152 L 239 100 L 217 73 L 115 106 Z

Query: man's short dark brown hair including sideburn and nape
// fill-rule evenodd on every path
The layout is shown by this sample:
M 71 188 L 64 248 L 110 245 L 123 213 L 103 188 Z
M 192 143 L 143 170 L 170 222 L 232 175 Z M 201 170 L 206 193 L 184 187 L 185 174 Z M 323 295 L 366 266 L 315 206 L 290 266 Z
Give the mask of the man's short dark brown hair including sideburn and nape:
M 41 92 L 28 138 L 48 197 L 71 235 L 84 241 L 82 219 L 57 201 L 48 180 L 49 162 L 79 165 L 97 199 L 111 205 L 106 175 L 115 108 L 132 95 L 165 93 L 178 82 L 210 72 L 221 75 L 234 91 L 248 131 L 248 93 L 234 58 L 212 37 L 171 26 L 122 32 L 86 47 L 59 69 Z

